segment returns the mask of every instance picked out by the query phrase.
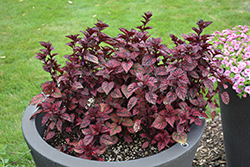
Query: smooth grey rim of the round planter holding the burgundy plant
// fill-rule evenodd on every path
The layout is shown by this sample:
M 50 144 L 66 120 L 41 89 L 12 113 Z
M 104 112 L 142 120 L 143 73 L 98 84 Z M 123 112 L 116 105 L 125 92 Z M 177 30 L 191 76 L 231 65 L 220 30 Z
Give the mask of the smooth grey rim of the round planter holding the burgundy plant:
M 201 136 L 203 134 L 205 128 L 205 119 L 202 119 L 202 125 L 191 125 L 191 131 L 188 135 L 188 146 L 184 147 L 179 143 L 176 143 L 172 147 L 168 148 L 165 151 L 162 151 L 158 154 L 144 157 L 135 160 L 129 161 L 119 161 L 119 162 L 107 162 L 107 161 L 94 161 L 77 158 L 68 154 L 65 154 L 57 149 L 53 148 L 49 144 L 47 144 L 42 137 L 40 136 L 36 125 L 39 124 L 36 122 L 38 116 L 35 116 L 35 119 L 31 119 L 31 115 L 35 112 L 36 106 L 29 105 L 23 115 L 22 118 L 22 131 L 25 138 L 26 143 L 28 144 L 30 149 L 39 150 L 41 156 L 47 157 L 51 161 L 55 163 L 62 164 L 65 166 L 79 166 L 79 164 L 84 164 L 84 166 L 95 166 L 95 167 L 103 167 L 108 164 L 109 167 L 128 167 L 131 166 L 159 166 L 162 163 L 167 163 L 180 157 L 181 155 L 188 152 L 192 147 L 194 147 L 197 142 L 200 141 Z M 40 123 L 41 124 L 41 123 Z

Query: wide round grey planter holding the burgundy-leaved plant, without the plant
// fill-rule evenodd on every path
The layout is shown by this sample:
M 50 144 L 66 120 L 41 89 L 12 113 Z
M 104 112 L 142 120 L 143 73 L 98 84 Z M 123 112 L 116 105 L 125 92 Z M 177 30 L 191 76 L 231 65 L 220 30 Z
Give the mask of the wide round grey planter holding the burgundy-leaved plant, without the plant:
M 205 120 L 202 120 L 202 126 L 192 125 L 191 132 L 188 133 L 188 145 L 185 147 L 175 144 L 166 151 L 146 158 L 100 162 L 67 155 L 47 144 L 41 137 L 44 131 L 41 128 L 42 115 L 29 119 L 34 111 L 35 106 L 27 107 L 22 119 L 22 131 L 37 167 L 191 167 L 205 127 Z

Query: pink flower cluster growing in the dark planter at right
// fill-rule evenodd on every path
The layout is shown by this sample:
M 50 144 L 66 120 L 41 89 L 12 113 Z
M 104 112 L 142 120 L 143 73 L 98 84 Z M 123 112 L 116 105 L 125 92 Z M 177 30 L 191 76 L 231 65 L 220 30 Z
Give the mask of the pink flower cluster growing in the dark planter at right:
M 211 38 L 213 46 L 223 52 L 215 56 L 215 60 L 219 60 L 218 72 L 231 79 L 239 97 L 250 95 L 249 32 L 248 26 L 239 25 L 232 30 L 215 31 Z

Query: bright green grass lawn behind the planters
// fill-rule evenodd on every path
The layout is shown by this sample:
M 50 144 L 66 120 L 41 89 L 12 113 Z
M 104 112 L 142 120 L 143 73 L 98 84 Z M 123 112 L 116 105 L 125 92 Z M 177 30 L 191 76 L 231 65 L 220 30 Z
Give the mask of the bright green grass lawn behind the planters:
M 199 19 L 213 21 L 206 33 L 250 25 L 249 0 L 1 0 L 0 5 L 0 144 L 6 146 L 2 159 L 14 166 L 35 166 L 21 132 L 21 119 L 31 98 L 49 80 L 42 64 L 34 58 L 39 41 L 50 41 L 61 57 L 70 53 L 66 35 L 80 33 L 96 19 L 118 28 L 140 25 L 144 12 L 153 13 L 150 30 L 170 45 L 169 34 L 191 32 Z M 59 58 L 63 62 L 63 58 Z M 10 163 L 9 163 L 10 164 Z M 0 165 L 1 166 L 1 165 Z

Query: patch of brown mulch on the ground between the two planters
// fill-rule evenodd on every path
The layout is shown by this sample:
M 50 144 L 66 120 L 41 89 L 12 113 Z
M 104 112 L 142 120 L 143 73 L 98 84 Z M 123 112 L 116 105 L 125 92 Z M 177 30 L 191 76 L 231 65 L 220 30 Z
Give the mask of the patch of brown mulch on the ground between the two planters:
M 207 120 L 192 167 L 225 167 L 226 155 L 220 115 Z

